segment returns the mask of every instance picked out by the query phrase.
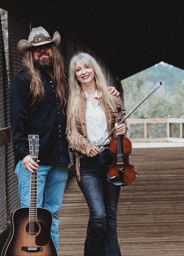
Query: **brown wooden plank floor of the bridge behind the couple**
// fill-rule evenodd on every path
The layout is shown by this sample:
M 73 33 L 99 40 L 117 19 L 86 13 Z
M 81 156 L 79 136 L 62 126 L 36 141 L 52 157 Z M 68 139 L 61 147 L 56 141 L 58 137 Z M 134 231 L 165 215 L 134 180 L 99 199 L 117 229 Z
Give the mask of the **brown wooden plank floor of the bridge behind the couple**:
M 133 149 L 138 176 L 118 204 L 122 256 L 184 255 L 184 148 Z M 82 256 L 89 211 L 73 177 L 60 216 L 60 255 Z M 113 255 L 112 255 L 113 256 Z

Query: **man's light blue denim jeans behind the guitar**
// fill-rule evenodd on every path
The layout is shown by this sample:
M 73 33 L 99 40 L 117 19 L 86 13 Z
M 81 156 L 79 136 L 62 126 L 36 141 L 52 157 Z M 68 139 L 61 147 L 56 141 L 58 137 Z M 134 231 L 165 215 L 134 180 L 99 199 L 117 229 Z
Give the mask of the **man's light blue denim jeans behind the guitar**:
M 21 161 L 18 162 L 15 173 L 19 180 L 21 207 L 29 207 L 31 173 L 23 167 Z M 57 211 L 61 208 L 67 178 L 68 164 L 58 164 L 56 166 L 39 165 L 37 170 L 37 207 L 43 207 L 52 212 L 51 236 L 58 253 L 59 217 Z

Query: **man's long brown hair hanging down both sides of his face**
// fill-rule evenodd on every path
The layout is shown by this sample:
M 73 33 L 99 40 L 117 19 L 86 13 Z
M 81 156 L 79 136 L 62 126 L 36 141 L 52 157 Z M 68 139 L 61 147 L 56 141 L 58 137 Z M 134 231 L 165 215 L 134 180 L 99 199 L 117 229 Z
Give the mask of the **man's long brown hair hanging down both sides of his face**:
M 51 45 L 53 56 L 53 72 L 54 72 L 54 83 L 56 85 L 56 92 L 60 99 L 60 106 L 65 106 L 67 103 L 67 86 L 66 86 L 66 76 L 64 72 L 64 60 L 60 55 L 58 47 Z M 29 73 L 31 83 L 31 94 L 33 95 L 32 104 L 35 101 L 39 101 L 44 97 L 44 86 L 41 81 L 41 74 L 38 68 L 34 65 L 33 53 L 31 50 L 26 51 L 23 56 L 23 67 L 26 68 Z

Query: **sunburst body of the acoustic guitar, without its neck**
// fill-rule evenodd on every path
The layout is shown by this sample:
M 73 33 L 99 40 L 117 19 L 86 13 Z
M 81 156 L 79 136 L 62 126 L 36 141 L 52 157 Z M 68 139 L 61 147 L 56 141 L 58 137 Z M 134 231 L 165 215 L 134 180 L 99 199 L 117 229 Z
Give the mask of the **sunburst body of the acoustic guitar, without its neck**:
M 37 221 L 32 221 L 34 232 L 29 234 L 29 210 L 29 207 L 22 207 L 11 212 L 11 232 L 2 255 L 58 255 L 51 237 L 52 213 L 45 208 L 37 208 Z

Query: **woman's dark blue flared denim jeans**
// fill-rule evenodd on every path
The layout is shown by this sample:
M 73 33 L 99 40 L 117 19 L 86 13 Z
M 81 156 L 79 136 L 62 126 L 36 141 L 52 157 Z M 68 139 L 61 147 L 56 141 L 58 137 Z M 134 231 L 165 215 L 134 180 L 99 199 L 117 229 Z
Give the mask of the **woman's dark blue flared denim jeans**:
M 117 206 L 120 186 L 107 181 L 112 157 L 109 150 L 80 159 L 78 185 L 86 199 L 90 216 L 84 256 L 120 256 L 117 238 Z

